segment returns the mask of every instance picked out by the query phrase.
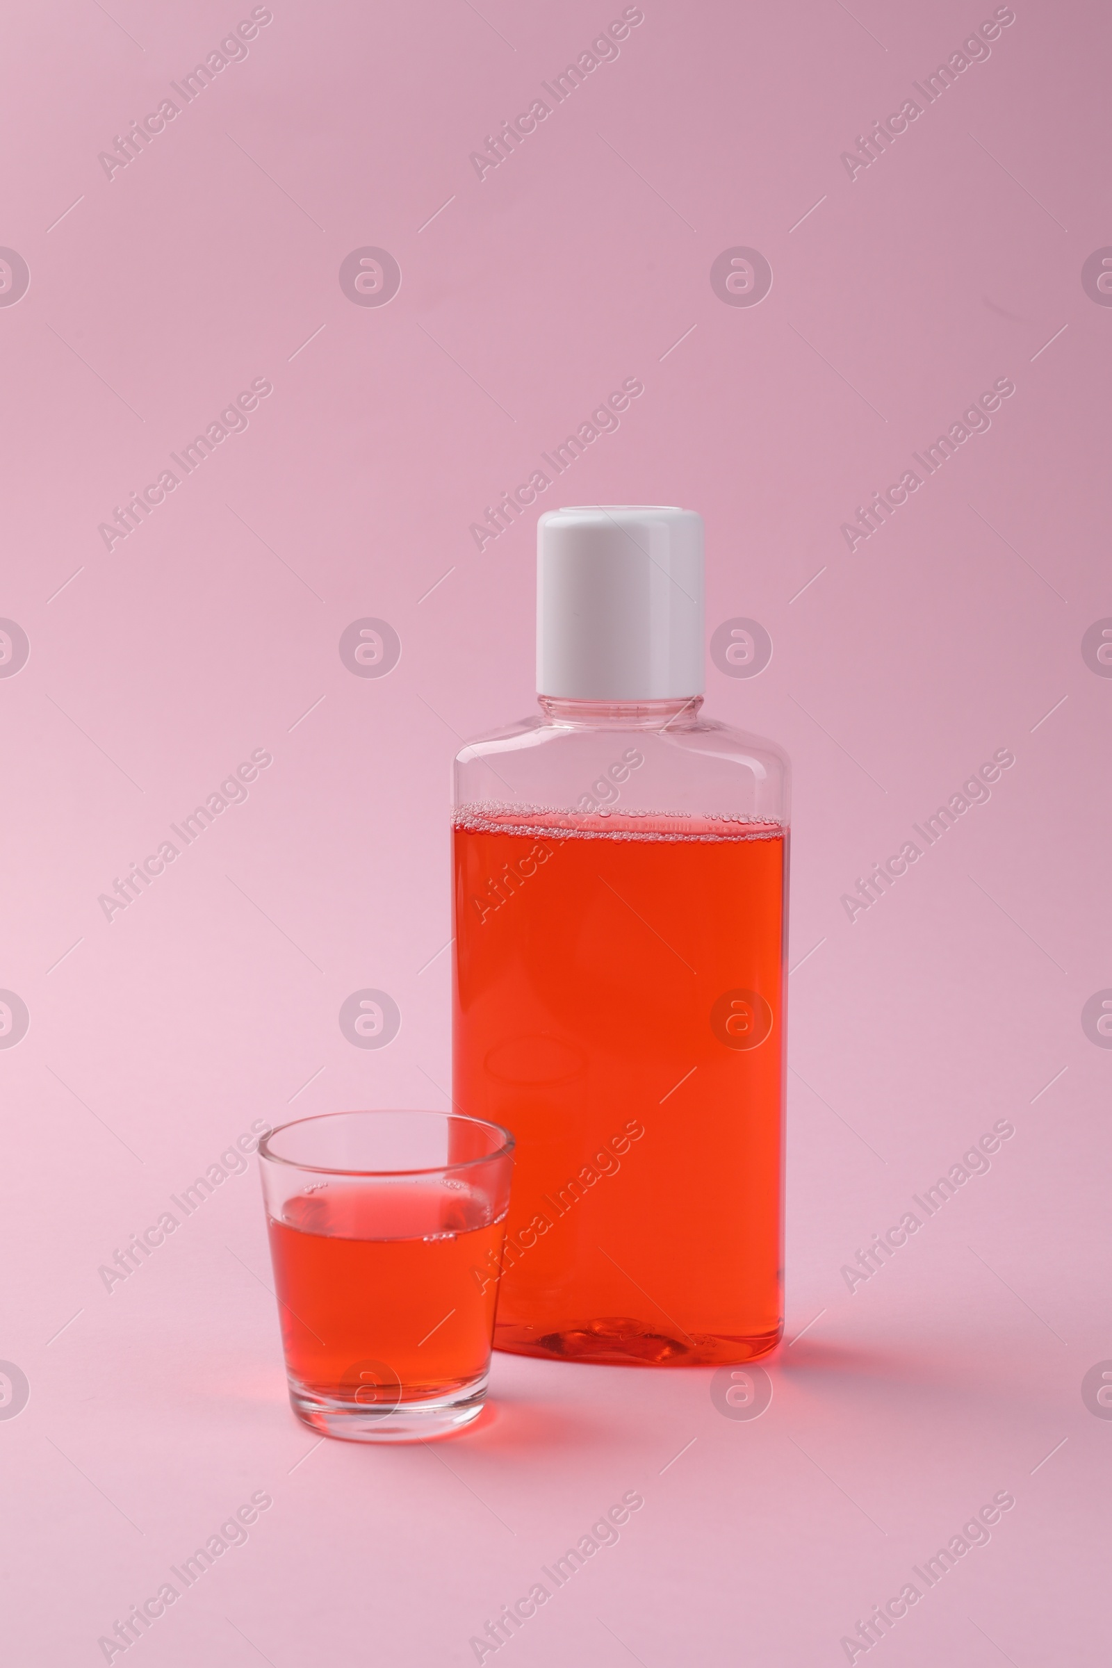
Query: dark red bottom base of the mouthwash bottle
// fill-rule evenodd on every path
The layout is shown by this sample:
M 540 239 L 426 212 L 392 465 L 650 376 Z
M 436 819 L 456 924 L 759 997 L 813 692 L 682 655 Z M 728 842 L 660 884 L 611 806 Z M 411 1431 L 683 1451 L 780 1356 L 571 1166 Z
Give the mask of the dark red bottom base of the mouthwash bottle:
M 595 1366 L 734 1366 L 769 1354 L 780 1343 L 784 1323 L 769 1333 L 684 1333 L 679 1338 L 627 1316 L 570 1321 L 540 1328 L 495 1324 L 493 1348 L 505 1354 L 547 1361 L 585 1361 Z

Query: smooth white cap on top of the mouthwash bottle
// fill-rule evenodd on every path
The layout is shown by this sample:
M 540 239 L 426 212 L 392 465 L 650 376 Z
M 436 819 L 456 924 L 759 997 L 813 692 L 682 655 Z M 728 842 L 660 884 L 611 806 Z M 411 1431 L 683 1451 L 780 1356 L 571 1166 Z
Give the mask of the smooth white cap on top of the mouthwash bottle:
M 580 504 L 537 522 L 537 691 L 672 701 L 704 677 L 704 522 L 660 504 Z

